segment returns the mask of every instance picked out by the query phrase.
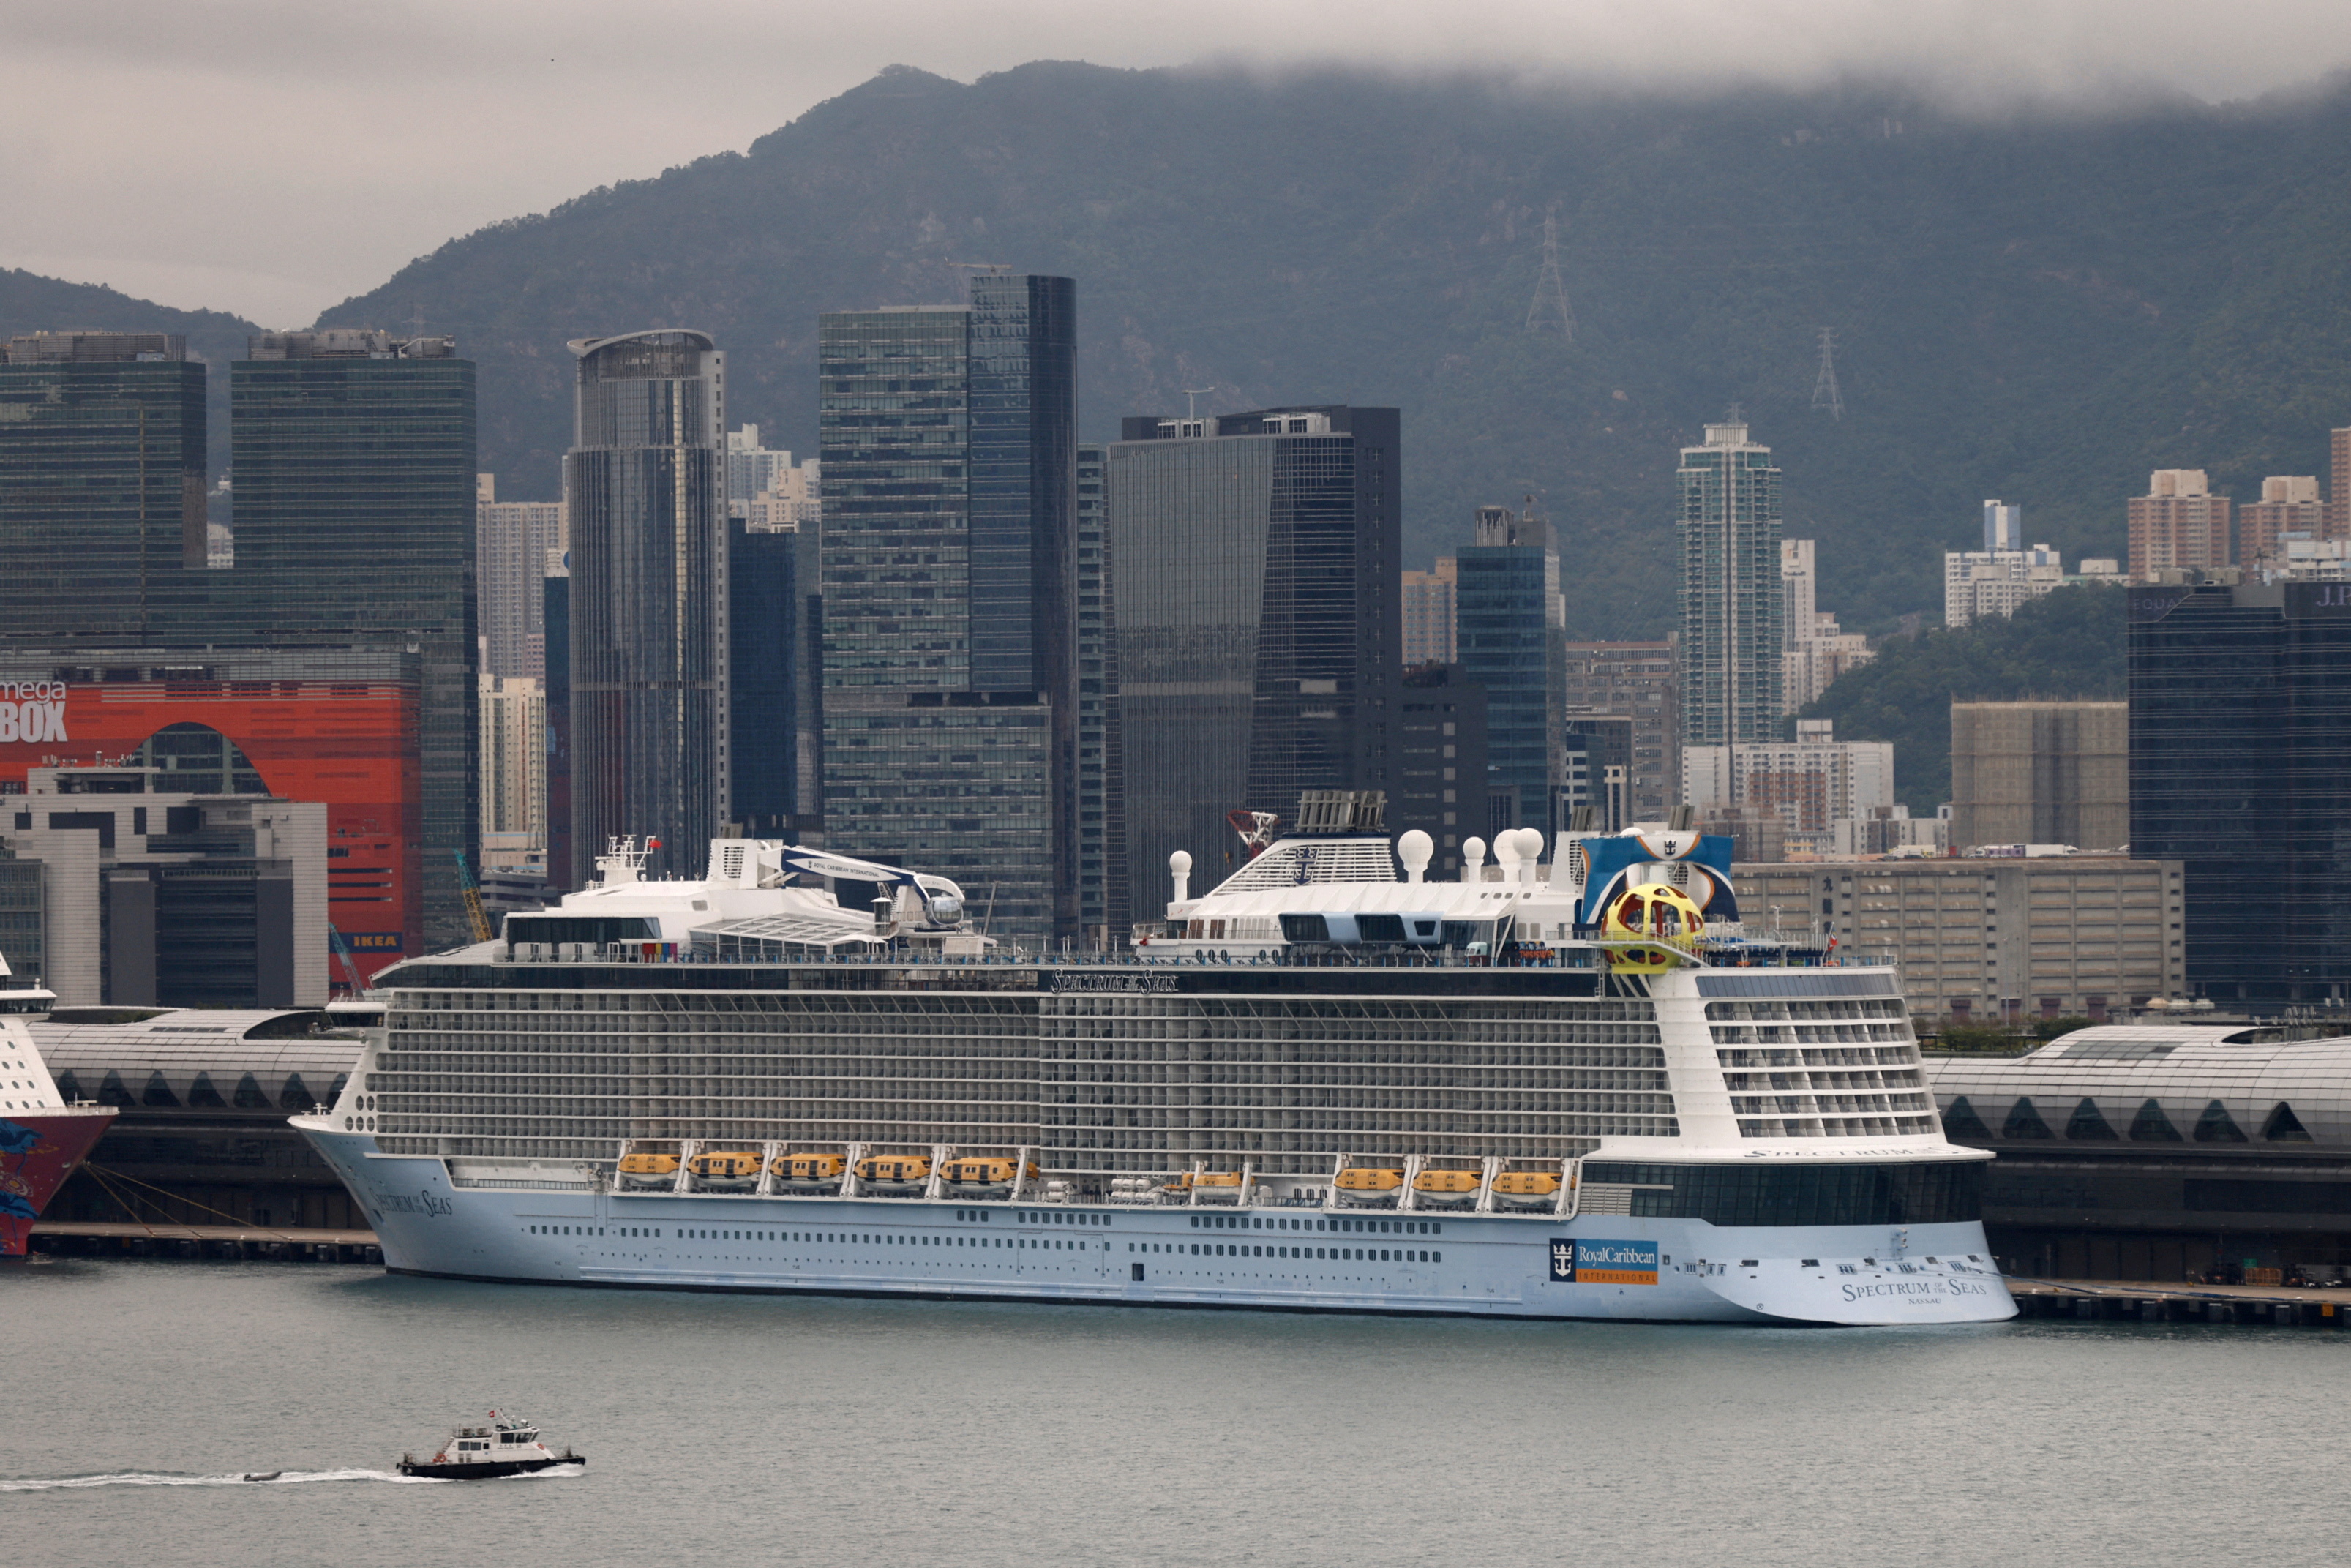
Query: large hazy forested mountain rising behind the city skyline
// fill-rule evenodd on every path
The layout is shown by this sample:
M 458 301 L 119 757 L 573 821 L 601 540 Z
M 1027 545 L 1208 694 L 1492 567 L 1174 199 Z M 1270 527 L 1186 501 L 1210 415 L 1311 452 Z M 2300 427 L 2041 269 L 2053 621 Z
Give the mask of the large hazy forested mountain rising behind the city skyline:
M 1396 404 L 1408 564 L 1535 494 L 1575 635 L 1669 625 L 1676 447 L 1740 404 L 1787 531 L 1822 541 L 1822 604 L 1883 630 L 1940 609 L 1935 552 L 1980 541 L 1984 496 L 2071 559 L 2123 552 L 2149 468 L 2241 498 L 2323 473 L 2351 423 L 2344 167 L 2342 82 L 1989 120 L 1874 85 L 896 68 L 748 153 L 454 240 L 322 324 L 454 331 L 482 465 L 552 496 L 564 339 L 712 331 L 731 423 L 809 451 L 820 310 L 962 299 L 957 263 L 1067 273 L 1089 440 L 1183 388 Z M 1573 341 L 1526 329 L 1547 214 Z M 134 324 L 31 320 L 26 292 L 0 277 L 7 329 Z M 1822 327 L 1843 418 L 1813 409 Z

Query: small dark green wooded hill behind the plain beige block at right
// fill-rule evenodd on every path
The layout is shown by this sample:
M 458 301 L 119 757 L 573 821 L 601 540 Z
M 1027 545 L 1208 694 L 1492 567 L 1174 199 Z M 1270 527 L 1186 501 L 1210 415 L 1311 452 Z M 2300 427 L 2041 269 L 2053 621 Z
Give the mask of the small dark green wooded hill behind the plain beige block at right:
M 1958 630 L 1888 637 L 1878 656 L 1838 677 L 1806 719 L 1836 719 L 1838 741 L 1893 741 L 1895 792 L 1911 816 L 1951 799 L 1951 703 L 2099 698 L 2130 693 L 2121 588 L 2059 588 Z

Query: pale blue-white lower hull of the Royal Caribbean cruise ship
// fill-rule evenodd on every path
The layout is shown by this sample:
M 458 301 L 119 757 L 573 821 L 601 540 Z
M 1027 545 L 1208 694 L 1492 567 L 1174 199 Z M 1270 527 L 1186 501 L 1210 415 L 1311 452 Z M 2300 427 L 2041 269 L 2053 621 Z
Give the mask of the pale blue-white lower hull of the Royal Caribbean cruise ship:
M 296 1117 L 402 1274 L 1117 1307 L 1712 1324 L 2015 1316 L 1977 1222 L 1704 1220 L 1345 1208 L 952 1204 L 473 1182 Z

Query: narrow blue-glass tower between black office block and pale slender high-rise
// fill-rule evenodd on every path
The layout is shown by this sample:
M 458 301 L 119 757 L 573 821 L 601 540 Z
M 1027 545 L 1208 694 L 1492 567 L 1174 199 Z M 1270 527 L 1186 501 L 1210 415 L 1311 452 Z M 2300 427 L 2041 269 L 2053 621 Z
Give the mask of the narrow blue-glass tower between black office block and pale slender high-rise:
M 1549 839 L 1568 635 L 1552 524 L 1533 505 L 1481 505 L 1453 571 L 1462 675 L 1486 689 L 1488 832 L 1535 827 Z

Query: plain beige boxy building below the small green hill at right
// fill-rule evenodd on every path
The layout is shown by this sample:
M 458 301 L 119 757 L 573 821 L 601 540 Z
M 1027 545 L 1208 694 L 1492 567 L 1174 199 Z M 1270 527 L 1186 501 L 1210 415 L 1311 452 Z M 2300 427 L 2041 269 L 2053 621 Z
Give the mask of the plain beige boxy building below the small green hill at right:
M 2128 842 L 2128 703 L 1951 703 L 1954 846 Z

